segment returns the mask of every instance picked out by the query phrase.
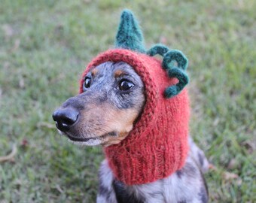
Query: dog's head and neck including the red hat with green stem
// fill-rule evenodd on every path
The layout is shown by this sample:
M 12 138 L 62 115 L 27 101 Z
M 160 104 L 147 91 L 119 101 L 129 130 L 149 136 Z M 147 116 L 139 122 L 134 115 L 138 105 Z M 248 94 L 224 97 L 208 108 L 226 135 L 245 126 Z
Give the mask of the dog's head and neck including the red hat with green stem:
M 87 65 L 80 94 L 56 110 L 53 120 L 71 141 L 105 146 L 118 180 L 153 182 L 183 167 L 187 157 L 187 58 L 162 44 L 145 50 L 138 23 L 127 10 L 115 44 Z M 157 54 L 163 61 L 153 57 Z

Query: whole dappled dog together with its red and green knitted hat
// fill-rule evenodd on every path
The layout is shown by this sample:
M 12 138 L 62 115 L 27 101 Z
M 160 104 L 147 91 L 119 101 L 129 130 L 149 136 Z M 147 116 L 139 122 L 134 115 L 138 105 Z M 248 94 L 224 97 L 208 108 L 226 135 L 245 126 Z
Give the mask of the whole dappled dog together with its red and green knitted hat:
M 110 50 L 88 65 L 81 93 L 54 111 L 53 120 L 60 134 L 75 144 L 107 149 L 97 202 L 207 202 L 203 173 L 209 163 L 184 130 L 189 117 L 186 92 L 168 100 L 188 82 L 187 59 L 165 46 L 146 52 L 142 41 L 133 14 L 123 11 L 116 43 L 121 50 Z M 157 53 L 163 56 L 164 70 L 151 57 Z M 172 67 L 173 60 L 178 66 Z M 162 91 L 170 84 L 164 98 Z

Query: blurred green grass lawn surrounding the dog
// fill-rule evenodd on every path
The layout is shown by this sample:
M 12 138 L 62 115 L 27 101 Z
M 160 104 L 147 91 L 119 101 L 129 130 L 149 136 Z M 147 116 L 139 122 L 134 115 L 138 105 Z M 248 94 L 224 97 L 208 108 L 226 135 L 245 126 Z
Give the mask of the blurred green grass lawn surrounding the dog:
M 168 2 L 168 3 L 167 3 Z M 120 11 L 147 47 L 190 60 L 190 133 L 215 170 L 210 202 L 256 202 L 256 1 L 2 0 L 0 202 L 94 202 L 101 147 L 61 138 L 53 110 L 78 94 L 87 62 L 113 47 Z

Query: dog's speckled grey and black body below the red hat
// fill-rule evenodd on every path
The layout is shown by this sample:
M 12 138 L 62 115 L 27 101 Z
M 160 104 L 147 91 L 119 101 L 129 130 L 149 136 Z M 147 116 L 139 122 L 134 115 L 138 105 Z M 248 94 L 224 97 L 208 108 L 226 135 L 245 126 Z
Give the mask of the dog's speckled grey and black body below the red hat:
M 208 189 L 203 172 L 209 163 L 203 151 L 190 138 L 190 153 L 181 170 L 153 183 L 126 186 L 115 180 L 108 162 L 104 160 L 99 171 L 98 203 L 205 203 Z

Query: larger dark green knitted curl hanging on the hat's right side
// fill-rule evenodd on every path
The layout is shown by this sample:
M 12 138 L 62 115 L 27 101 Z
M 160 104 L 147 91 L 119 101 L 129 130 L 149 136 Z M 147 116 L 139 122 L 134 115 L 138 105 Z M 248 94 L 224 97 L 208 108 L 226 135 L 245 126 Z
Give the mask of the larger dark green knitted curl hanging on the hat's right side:
M 178 67 L 175 66 L 177 62 Z M 169 86 L 165 90 L 167 98 L 178 95 L 179 92 L 187 85 L 189 79 L 185 70 L 187 69 L 188 60 L 184 54 L 179 50 L 170 50 L 163 56 L 163 68 L 168 70 L 169 77 L 176 77 L 178 83 Z

